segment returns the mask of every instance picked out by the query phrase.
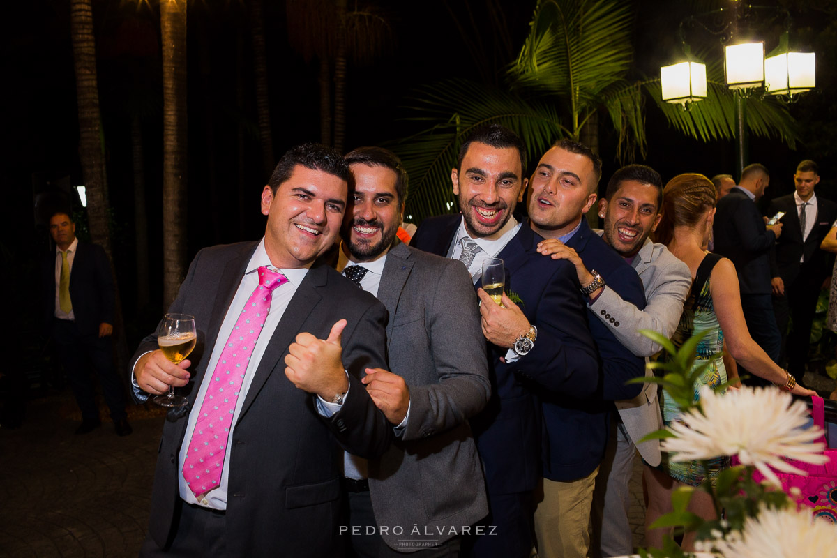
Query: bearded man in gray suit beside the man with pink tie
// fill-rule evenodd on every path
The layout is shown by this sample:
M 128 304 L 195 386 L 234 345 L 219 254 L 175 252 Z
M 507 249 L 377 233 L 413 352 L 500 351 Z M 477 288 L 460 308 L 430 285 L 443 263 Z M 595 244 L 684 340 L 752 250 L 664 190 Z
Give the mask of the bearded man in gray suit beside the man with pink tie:
M 347 453 L 344 531 L 361 556 L 458 555 L 463 532 L 488 513 L 468 424 L 490 396 L 478 300 L 460 262 L 398 242 L 398 157 L 361 147 L 346 159 L 355 183 L 337 269 L 389 311 L 389 369 L 362 381 L 396 438 L 381 458 Z

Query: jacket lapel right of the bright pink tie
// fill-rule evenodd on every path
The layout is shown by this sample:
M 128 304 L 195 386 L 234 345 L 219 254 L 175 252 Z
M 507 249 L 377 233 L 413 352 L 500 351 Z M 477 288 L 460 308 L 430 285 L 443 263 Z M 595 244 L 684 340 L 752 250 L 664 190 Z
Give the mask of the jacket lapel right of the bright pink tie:
M 296 335 L 300 333 L 302 325 L 306 323 L 308 316 L 311 315 L 316 305 L 320 304 L 322 296 L 317 292 L 317 288 L 326 284 L 327 270 L 328 268 L 325 264 L 315 264 L 312 266 L 308 270 L 306 278 L 302 280 L 302 283 L 296 289 L 293 298 L 290 299 L 288 307 L 282 315 L 282 319 L 276 325 L 273 336 L 267 341 L 268 346 L 264 348 L 264 355 L 262 355 L 261 361 L 259 361 L 259 367 L 254 372 L 253 381 L 250 383 L 247 397 L 244 399 L 244 405 L 241 407 L 239 422 L 244 417 L 250 405 L 253 404 L 261 388 L 264 387 L 264 382 L 267 381 L 282 356 L 288 351 L 288 347 Z M 259 342 L 262 341 L 259 340 Z

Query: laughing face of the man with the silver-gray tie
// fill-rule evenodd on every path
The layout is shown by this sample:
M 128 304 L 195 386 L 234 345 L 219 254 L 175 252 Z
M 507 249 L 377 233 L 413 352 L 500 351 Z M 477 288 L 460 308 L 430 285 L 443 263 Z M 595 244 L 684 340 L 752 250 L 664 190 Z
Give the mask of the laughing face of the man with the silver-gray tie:
M 460 170 L 450 171 L 450 180 L 465 217 L 465 229 L 472 238 L 490 237 L 503 228 L 523 199 L 527 181 L 521 178 L 520 153 L 514 147 L 475 141 Z

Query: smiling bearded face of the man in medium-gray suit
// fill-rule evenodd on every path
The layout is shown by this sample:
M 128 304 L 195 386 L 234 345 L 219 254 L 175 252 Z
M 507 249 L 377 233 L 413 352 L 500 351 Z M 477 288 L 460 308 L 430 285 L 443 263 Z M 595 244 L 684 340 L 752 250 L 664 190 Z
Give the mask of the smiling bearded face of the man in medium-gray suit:
M 386 166 L 355 163 L 349 166 L 355 177 L 341 236 L 357 262 L 376 259 L 395 239 L 403 218 L 398 207 L 395 171 Z

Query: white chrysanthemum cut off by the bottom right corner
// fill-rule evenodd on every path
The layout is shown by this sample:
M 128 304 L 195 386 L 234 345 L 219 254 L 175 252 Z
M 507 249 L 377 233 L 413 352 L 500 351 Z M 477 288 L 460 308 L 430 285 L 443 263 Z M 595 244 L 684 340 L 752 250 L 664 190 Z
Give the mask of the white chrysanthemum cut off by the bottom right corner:
M 732 533 L 730 534 L 732 535 Z M 811 515 L 810 509 L 766 509 L 744 521 L 741 536 L 715 540 L 716 550 L 727 557 L 837 558 L 837 526 Z

